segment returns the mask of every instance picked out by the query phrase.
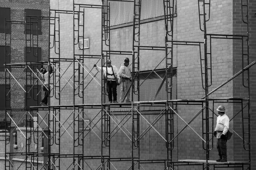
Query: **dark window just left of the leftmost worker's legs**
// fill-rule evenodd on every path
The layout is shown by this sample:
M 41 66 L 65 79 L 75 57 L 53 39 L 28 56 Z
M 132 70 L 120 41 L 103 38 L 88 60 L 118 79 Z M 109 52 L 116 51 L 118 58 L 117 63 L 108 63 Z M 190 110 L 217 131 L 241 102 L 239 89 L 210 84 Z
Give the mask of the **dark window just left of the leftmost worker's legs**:
M 31 85 L 25 85 L 26 92 L 31 89 Z M 34 85 L 32 89 L 28 92 L 27 96 L 25 93 L 25 97 L 27 97 L 27 107 L 29 106 L 40 106 L 41 102 L 41 85 Z M 37 95 L 38 94 L 38 95 Z M 26 107 L 26 100 L 25 100 L 25 107 Z

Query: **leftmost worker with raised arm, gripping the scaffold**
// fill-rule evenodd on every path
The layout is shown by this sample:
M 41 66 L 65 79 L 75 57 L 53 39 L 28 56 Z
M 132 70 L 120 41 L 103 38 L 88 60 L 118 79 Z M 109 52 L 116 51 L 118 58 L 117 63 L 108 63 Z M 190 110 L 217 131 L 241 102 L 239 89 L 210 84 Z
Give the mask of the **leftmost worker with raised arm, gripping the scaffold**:
M 49 73 L 52 73 L 52 66 L 50 65 L 50 70 L 49 72 L 46 70 L 46 68 L 43 68 L 43 64 L 41 65 L 41 69 L 40 69 L 41 73 L 43 74 L 43 91 L 44 91 L 44 97 L 43 100 L 41 101 L 41 105 L 43 106 L 47 106 L 48 103 L 48 93 L 49 91 L 47 90 L 47 88 L 49 88 L 49 82 L 48 82 L 48 78 L 49 78 Z M 46 86 L 46 87 L 45 87 Z

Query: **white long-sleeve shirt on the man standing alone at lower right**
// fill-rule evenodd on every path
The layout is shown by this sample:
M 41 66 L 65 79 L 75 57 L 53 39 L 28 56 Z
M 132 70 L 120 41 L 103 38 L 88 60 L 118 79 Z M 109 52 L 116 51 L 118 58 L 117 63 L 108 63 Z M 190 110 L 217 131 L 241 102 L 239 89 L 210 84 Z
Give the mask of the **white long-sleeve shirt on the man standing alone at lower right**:
M 218 136 L 219 135 L 226 135 L 226 133 L 228 132 L 229 130 L 229 117 L 224 114 L 224 115 L 219 115 L 217 117 L 217 124 L 216 124 L 216 128 L 215 128 L 215 131 L 223 131 L 222 133 L 218 133 Z M 217 138 L 218 138 L 217 136 Z

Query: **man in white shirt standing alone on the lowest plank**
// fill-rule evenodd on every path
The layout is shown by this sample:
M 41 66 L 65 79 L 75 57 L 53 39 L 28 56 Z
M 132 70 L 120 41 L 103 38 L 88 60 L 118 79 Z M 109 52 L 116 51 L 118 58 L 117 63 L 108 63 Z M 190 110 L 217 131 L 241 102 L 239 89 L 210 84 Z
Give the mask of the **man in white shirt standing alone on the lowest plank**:
M 219 106 L 217 109 L 219 116 L 213 135 L 217 135 L 217 149 L 219 159 L 217 162 L 227 162 L 227 132 L 229 130 L 229 117 L 225 114 L 225 107 Z

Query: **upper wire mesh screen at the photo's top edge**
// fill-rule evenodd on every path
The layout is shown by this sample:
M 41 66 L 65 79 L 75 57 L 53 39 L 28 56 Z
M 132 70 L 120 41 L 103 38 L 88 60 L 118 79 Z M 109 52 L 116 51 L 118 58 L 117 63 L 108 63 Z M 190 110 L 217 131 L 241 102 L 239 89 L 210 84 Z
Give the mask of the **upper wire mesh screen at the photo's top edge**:
M 176 2 L 177 0 L 174 0 L 174 13 Z M 170 4 L 172 3 L 173 0 L 170 0 Z M 141 20 L 164 16 L 163 9 L 163 0 L 141 0 Z M 110 26 L 130 22 L 133 22 L 133 3 L 110 1 Z

